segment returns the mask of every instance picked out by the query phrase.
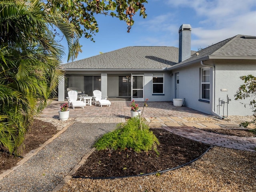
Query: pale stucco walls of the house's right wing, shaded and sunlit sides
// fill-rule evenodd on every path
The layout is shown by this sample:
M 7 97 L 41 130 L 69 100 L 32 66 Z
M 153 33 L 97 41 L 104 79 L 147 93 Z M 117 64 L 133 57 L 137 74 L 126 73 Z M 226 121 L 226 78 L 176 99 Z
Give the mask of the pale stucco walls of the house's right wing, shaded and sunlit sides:
M 200 68 L 203 66 L 198 63 L 185 68 L 172 70 L 175 74 L 179 72 L 179 97 L 185 98 L 185 106 L 199 110 L 206 114 L 216 112 L 220 116 L 227 115 L 252 115 L 253 112 L 243 103 L 249 103 L 249 100 L 234 100 L 234 95 L 239 86 L 243 84 L 240 76 L 252 74 L 256 76 L 255 60 L 211 60 L 206 64 L 214 65 L 215 70 L 211 69 L 210 82 L 210 103 L 201 102 L 200 99 Z M 175 76 L 175 75 L 174 75 Z M 172 80 L 172 99 L 175 98 L 175 77 Z M 226 89 L 227 91 L 221 91 Z M 227 95 L 231 99 L 227 110 Z

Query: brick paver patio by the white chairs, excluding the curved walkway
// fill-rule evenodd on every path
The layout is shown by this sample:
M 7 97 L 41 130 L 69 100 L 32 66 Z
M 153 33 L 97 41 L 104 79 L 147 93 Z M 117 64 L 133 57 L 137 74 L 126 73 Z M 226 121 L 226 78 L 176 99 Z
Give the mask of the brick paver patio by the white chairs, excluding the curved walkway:
M 58 118 L 58 110 L 64 102 L 53 101 L 41 114 L 41 117 Z M 110 118 L 124 119 L 130 117 L 130 102 L 111 102 L 108 106 L 89 106 L 84 109 L 76 107 L 69 108 L 70 118 L 77 118 L 81 121 L 86 118 Z M 139 104 L 140 110 L 143 108 L 144 102 L 136 102 Z M 175 107 L 172 102 L 148 102 L 148 107 L 144 108 L 143 117 L 146 119 L 157 118 L 159 122 L 178 122 L 182 121 L 182 117 L 207 117 L 207 114 L 187 108 L 185 106 Z M 104 122 L 104 119 L 102 119 Z M 166 121 L 167 120 L 167 121 Z M 120 122 L 122 120 L 116 120 Z M 102 122 L 102 123 L 103 123 Z

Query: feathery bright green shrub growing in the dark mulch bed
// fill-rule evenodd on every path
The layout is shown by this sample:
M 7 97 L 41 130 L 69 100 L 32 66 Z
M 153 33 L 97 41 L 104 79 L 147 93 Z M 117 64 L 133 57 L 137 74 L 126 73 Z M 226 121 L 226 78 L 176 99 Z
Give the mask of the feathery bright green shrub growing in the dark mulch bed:
M 140 128 L 140 121 L 141 126 Z M 117 129 L 102 136 L 95 144 L 97 150 L 125 150 L 132 148 L 136 152 L 156 150 L 158 139 L 149 130 L 146 122 L 139 117 L 130 118 L 125 124 L 120 123 Z

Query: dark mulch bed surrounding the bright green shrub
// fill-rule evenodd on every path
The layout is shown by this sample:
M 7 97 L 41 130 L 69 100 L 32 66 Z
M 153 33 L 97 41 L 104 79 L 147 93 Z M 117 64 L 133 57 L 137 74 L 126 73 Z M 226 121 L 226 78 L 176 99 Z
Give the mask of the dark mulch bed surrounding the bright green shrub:
M 160 145 L 155 151 L 136 153 L 133 150 L 100 150 L 92 153 L 74 176 L 120 177 L 168 170 L 190 162 L 210 146 L 172 134 L 164 129 L 152 129 Z

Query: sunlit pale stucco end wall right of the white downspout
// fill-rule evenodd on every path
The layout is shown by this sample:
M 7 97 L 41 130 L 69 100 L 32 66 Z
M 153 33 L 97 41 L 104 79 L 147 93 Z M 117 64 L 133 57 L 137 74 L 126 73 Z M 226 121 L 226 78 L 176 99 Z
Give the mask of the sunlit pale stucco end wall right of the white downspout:
M 240 85 L 244 82 L 239 78 L 240 76 L 247 76 L 252 74 L 256 76 L 256 61 L 254 60 L 217 60 L 215 61 L 215 109 L 216 112 L 222 116 L 227 115 L 252 115 L 252 109 L 244 104 L 250 102 L 246 100 L 234 100 L 234 95 L 238 91 Z M 227 91 L 221 91 L 226 89 Z M 231 99 L 229 104 L 227 102 L 227 95 Z M 242 104 L 244 103 L 244 104 Z

